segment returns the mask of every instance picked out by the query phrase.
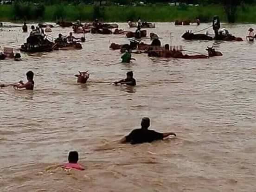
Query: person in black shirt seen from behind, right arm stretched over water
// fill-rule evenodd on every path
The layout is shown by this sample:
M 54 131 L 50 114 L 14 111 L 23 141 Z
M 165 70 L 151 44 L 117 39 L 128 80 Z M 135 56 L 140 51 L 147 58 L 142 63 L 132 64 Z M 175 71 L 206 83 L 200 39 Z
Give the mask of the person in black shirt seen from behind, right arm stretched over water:
M 141 128 L 134 129 L 130 134 L 125 136 L 120 142 L 121 143 L 131 143 L 131 144 L 139 144 L 145 142 L 152 142 L 156 140 L 163 140 L 169 135 L 177 136 L 175 133 L 158 133 L 154 130 L 148 130 L 150 126 L 150 119 L 148 117 L 142 118 Z

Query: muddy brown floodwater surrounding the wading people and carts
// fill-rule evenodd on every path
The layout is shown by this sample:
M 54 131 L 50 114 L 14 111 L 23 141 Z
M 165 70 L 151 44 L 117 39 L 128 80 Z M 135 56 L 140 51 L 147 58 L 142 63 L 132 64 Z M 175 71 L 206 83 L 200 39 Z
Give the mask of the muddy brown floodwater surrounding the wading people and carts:
M 35 73 L 34 91 L 0 89 L 0 191 L 255 192 L 256 45 L 180 38 L 187 29 L 210 25 L 157 23 L 147 31 L 190 51 L 206 54 L 206 46 L 215 45 L 223 57 L 134 55 L 132 64 L 121 64 L 109 45 L 128 42 L 124 35 L 86 34 L 83 50 L 0 61 L 1 83 Z M 250 26 L 225 25 L 243 38 Z M 51 36 L 70 31 L 54 28 Z M 26 37 L 21 28 L 5 28 L 0 45 L 19 48 Z M 78 70 L 90 70 L 87 84 L 76 83 Z M 136 87 L 110 85 L 129 70 Z M 144 116 L 152 129 L 178 137 L 118 144 Z M 79 152 L 85 171 L 55 166 L 67 161 L 70 150 Z

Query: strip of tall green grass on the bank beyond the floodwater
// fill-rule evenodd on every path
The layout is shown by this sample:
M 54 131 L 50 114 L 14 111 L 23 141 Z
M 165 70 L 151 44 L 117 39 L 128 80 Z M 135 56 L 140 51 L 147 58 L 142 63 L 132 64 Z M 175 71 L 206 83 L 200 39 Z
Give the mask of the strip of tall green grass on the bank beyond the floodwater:
M 63 17 L 67 21 L 91 21 L 93 18 L 101 18 L 106 22 L 127 22 L 141 17 L 142 20 L 154 22 L 170 22 L 176 19 L 199 18 L 202 22 L 211 21 L 213 15 L 218 15 L 221 21 L 227 21 L 224 9 L 220 5 L 208 6 L 101 6 L 95 8 L 88 5 L 50 5 L 38 10 L 36 6 L 26 6 L 23 9 L 15 8 L 14 5 L 0 6 L 0 21 L 56 21 Z M 237 22 L 256 23 L 256 5 L 239 7 Z M 21 13 L 17 13 L 21 12 Z M 38 15 L 38 12 L 42 12 Z M 25 16 L 24 16 L 25 15 Z

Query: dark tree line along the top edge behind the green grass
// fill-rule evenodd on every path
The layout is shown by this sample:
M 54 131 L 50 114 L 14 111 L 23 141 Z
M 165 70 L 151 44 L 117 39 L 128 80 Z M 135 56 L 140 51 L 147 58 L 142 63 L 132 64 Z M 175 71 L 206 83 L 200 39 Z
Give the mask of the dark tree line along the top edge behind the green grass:
M 143 3 L 141 3 L 143 2 Z M 36 3 L 36 7 L 30 8 L 30 5 Z M 256 4 L 256 0 L 14 0 L 15 16 L 17 18 L 22 17 L 31 12 L 30 15 L 34 18 L 41 17 L 45 11 L 45 5 L 63 5 L 63 4 L 90 4 L 94 5 L 95 13 L 101 13 L 103 8 L 101 6 L 107 5 L 127 5 L 127 6 L 142 6 L 150 4 L 163 4 L 173 3 L 176 6 L 186 7 L 189 5 L 222 5 L 226 13 L 227 19 L 230 23 L 236 21 L 237 9 L 239 6 L 245 4 Z M 30 5 L 28 5 L 30 4 Z M 29 10 L 30 8 L 30 10 Z M 61 12 L 61 11 L 59 11 Z M 28 18 L 29 19 L 29 18 Z

